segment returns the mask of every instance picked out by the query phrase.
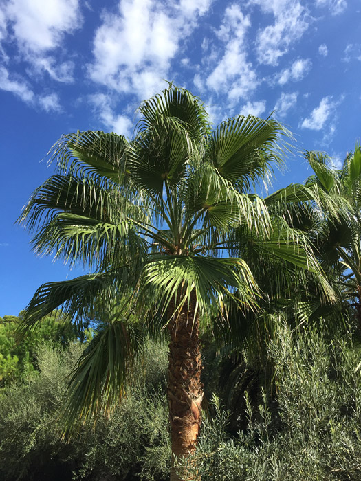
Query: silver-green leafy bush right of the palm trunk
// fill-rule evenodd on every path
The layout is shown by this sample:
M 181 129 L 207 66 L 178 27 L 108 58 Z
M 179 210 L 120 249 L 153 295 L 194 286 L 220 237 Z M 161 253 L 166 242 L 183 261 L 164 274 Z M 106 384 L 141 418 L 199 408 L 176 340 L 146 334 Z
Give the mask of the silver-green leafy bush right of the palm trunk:
M 285 328 L 270 356 L 278 414 L 264 392 L 257 413 L 246 399 L 248 428 L 232 438 L 214 399 L 195 454 L 202 481 L 360 481 L 361 364 L 351 337 L 328 342 L 309 328 L 294 340 Z

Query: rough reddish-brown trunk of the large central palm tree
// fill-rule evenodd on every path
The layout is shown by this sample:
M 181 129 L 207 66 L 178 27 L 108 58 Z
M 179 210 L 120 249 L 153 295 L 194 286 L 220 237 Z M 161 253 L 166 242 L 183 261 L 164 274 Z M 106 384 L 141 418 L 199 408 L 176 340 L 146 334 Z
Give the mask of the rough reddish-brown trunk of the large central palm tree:
M 168 404 L 171 423 L 172 465 L 171 481 L 194 480 L 190 473 L 177 475 L 175 458 L 187 458 L 195 449 L 201 424 L 201 349 L 199 317 L 195 302 L 184 306 L 168 324 L 171 335 L 168 364 Z M 172 309 L 172 306 L 170 310 Z M 174 313 L 174 309 L 172 309 Z

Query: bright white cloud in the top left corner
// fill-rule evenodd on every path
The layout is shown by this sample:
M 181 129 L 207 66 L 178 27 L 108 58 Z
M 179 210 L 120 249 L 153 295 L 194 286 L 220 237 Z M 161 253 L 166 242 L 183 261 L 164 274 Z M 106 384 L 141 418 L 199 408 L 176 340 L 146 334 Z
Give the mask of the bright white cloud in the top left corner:
M 55 49 L 82 23 L 78 0 L 10 0 L 5 12 L 19 49 L 31 54 Z

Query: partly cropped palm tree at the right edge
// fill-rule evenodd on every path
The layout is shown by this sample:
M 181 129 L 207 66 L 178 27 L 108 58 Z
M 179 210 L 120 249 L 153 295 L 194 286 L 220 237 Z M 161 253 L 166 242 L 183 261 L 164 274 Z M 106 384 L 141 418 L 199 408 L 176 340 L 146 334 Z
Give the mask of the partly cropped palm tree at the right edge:
M 306 152 L 314 175 L 306 186 L 317 185 L 336 206 L 324 206 L 322 220 L 314 233 L 316 253 L 322 267 L 339 285 L 340 297 L 348 310 L 355 307 L 361 330 L 361 147 L 348 153 L 340 169 L 331 166 L 324 153 Z

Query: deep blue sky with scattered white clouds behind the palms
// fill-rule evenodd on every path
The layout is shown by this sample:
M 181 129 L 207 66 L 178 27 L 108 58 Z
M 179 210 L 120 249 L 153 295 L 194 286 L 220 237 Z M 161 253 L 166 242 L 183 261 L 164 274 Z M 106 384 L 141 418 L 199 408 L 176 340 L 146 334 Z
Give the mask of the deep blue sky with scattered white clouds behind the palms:
M 336 167 L 353 150 L 360 78 L 360 0 L 0 0 L 0 316 L 81 273 L 36 257 L 14 225 L 63 133 L 131 137 L 140 102 L 173 80 L 215 124 L 274 111 L 296 139 L 276 190 L 309 175 L 301 150 Z

